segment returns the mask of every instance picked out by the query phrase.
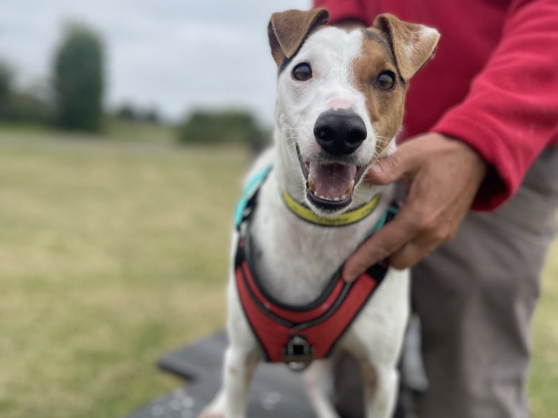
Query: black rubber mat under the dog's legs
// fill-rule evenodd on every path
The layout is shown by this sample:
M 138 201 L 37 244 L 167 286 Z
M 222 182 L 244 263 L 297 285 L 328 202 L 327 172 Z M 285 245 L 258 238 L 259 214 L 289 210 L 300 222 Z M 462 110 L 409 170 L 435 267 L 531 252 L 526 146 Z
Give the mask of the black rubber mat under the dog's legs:
M 163 356 L 158 366 L 188 380 L 128 418 L 195 418 L 220 387 L 225 333 Z M 260 364 L 248 398 L 249 418 L 313 418 L 300 373 L 282 364 Z

